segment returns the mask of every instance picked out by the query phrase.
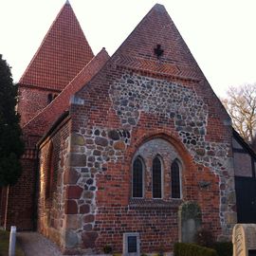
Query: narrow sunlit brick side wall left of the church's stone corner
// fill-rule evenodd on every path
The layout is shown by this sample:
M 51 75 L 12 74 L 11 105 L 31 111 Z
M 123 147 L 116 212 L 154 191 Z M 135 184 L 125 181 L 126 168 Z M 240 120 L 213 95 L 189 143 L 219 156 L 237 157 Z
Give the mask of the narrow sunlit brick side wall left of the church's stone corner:
M 70 122 L 64 120 L 56 133 L 46 137 L 39 156 L 38 230 L 60 246 L 66 228 L 64 172 L 68 166 L 69 127 Z

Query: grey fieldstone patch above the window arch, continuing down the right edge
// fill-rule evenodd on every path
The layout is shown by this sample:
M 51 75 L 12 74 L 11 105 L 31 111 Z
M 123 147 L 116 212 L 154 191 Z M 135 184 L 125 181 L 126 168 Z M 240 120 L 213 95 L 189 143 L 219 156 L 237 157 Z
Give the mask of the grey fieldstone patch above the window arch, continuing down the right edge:
M 236 223 L 231 145 L 207 141 L 209 108 L 203 99 L 184 85 L 128 73 L 112 84 L 109 94 L 126 129 L 137 125 L 141 112 L 174 119 L 175 131 L 194 162 L 219 177 L 220 222 L 223 234 L 229 236 Z

